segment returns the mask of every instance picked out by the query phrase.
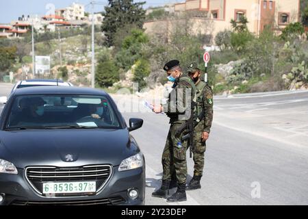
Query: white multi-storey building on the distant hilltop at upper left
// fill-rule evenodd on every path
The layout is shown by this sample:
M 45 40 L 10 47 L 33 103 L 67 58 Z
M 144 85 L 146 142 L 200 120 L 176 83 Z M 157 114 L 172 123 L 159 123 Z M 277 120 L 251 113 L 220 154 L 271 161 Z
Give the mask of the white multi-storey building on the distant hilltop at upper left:
M 84 21 L 86 19 L 84 5 L 79 3 L 55 10 L 55 15 L 63 17 L 66 21 Z

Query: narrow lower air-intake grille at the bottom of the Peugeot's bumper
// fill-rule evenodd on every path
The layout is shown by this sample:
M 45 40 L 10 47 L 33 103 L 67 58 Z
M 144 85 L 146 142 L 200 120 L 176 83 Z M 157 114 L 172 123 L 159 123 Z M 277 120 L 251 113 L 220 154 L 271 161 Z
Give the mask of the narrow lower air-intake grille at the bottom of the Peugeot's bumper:
M 10 205 L 121 205 L 125 199 L 121 196 L 83 201 L 13 201 Z

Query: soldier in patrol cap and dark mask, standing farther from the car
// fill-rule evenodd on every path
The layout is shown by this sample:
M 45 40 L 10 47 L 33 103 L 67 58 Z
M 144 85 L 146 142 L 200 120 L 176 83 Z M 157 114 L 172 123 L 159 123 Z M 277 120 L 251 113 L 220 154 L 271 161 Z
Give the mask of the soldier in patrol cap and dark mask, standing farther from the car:
M 196 85 L 195 118 L 198 118 L 203 110 L 205 113 L 203 119 L 194 128 L 194 177 L 186 186 L 186 190 L 197 190 L 201 188 L 206 141 L 213 121 L 213 92 L 206 82 L 201 81 L 201 70 L 196 63 L 190 64 L 188 73 Z

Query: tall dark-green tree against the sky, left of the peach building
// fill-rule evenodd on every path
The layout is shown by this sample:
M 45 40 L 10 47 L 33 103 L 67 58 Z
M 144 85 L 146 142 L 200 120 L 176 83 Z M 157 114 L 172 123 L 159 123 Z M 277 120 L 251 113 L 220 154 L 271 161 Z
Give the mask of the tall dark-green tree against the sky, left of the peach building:
M 145 19 L 145 10 L 142 5 L 145 2 L 133 3 L 133 0 L 108 0 L 108 6 L 103 12 L 104 22 L 101 30 L 107 37 L 107 45 L 114 45 L 114 34 L 118 29 L 127 24 L 136 24 L 140 29 Z

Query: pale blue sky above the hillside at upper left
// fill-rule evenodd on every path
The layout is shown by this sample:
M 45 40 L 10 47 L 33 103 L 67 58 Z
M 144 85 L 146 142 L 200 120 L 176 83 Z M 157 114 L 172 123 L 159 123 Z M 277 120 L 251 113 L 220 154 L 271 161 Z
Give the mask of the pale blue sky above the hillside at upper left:
M 94 11 L 101 12 L 104 5 L 107 5 L 108 1 L 97 1 L 102 2 L 103 5 L 95 5 Z M 144 8 L 148 8 L 149 6 L 164 5 L 166 3 L 181 2 L 181 0 L 135 0 L 135 2 L 138 1 L 146 1 Z M 31 14 L 50 14 L 49 10 L 51 8 L 65 8 L 73 2 L 88 5 L 90 0 L 0 0 L 0 23 L 10 23 L 12 20 L 18 20 L 18 17 L 23 14 L 25 14 L 25 16 Z M 90 5 L 86 7 L 86 12 L 91 12 Z

